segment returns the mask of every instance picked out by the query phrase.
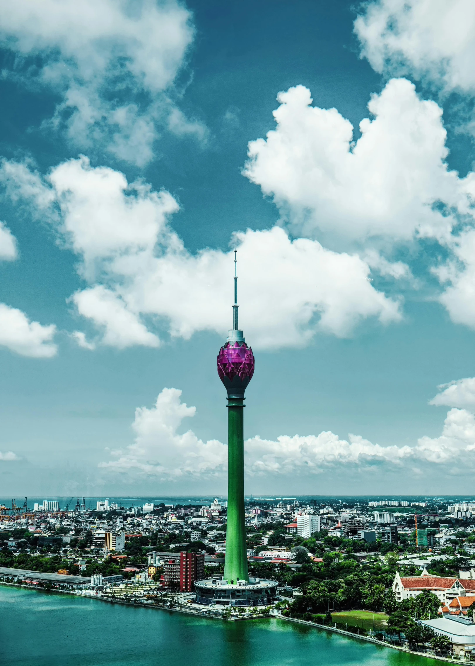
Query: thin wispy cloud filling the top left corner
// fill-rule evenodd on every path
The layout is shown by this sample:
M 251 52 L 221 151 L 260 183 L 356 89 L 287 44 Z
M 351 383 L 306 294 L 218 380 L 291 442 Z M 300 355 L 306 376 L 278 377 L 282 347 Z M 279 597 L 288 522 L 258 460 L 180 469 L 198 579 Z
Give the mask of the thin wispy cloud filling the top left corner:
M 181 113 L 172 97 L 194 38 L 188 9 L 176 0 L 1 0 L 0 9 L 0 45 L 15 55 L 3 76 L 61 98 L 45 126 L 82 147 L 105 140 L 136 165 L 150 161 L 159 128 L 174 131 Z M 182 113 L 177 129 L 206 133 Z

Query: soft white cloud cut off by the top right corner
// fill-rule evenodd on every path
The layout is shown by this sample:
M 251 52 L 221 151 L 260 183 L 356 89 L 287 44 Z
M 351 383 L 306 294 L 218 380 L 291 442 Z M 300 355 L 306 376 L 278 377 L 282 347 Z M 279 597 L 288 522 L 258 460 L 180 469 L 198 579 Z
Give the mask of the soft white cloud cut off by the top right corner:
M 361 55 L 379 73 L 408 73 L 446 92 L 475 91 L 472 0 L 379 0 L 355 21 Z

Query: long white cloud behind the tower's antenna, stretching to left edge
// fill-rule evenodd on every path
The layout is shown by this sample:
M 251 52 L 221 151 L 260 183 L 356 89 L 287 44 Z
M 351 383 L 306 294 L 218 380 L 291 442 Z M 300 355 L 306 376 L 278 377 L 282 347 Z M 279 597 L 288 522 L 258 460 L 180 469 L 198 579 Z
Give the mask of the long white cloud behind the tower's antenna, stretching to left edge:
M 72 300 L 104 332 L 104 344 L 154 347 L 160 331 L 186 339 L 198 330 L 226 335 L 233 253 L 188 252 L 169 223 L 178 210 L 169 192 L 128 184 L 124 174 L 92 168 L 84 157 L 47 178 L 5 164 L 0 178 L 13 198 L 48 216 L 80 257 L 88 286 Z M 318 330 L 347 336 L 363 318 L 401 318 L 400 302 L 373 287 L 357 254 L 291 240 L 280 227 L 238 232 L 232 244 L 239 246 L 241 322 L 257 347 L 301 346 Z

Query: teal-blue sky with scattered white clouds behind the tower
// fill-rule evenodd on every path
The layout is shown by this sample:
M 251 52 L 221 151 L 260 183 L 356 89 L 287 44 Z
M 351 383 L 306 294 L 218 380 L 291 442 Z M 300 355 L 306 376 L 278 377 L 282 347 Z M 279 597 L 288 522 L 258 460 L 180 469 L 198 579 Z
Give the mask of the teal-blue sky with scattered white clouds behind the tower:
M 0 9 L 0 495 L 470 494 L 474 3 Z

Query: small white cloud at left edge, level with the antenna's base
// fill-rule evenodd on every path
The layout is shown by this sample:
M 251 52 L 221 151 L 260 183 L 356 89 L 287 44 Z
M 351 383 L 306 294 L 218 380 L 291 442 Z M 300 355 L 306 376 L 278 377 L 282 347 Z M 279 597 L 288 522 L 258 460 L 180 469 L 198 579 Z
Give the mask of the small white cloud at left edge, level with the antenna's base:
M 21 356 L 51 358 L 57 352 L 53 344 L 56 326 L 30 322 L 24 312 L 0 303 L 0 345 Z

